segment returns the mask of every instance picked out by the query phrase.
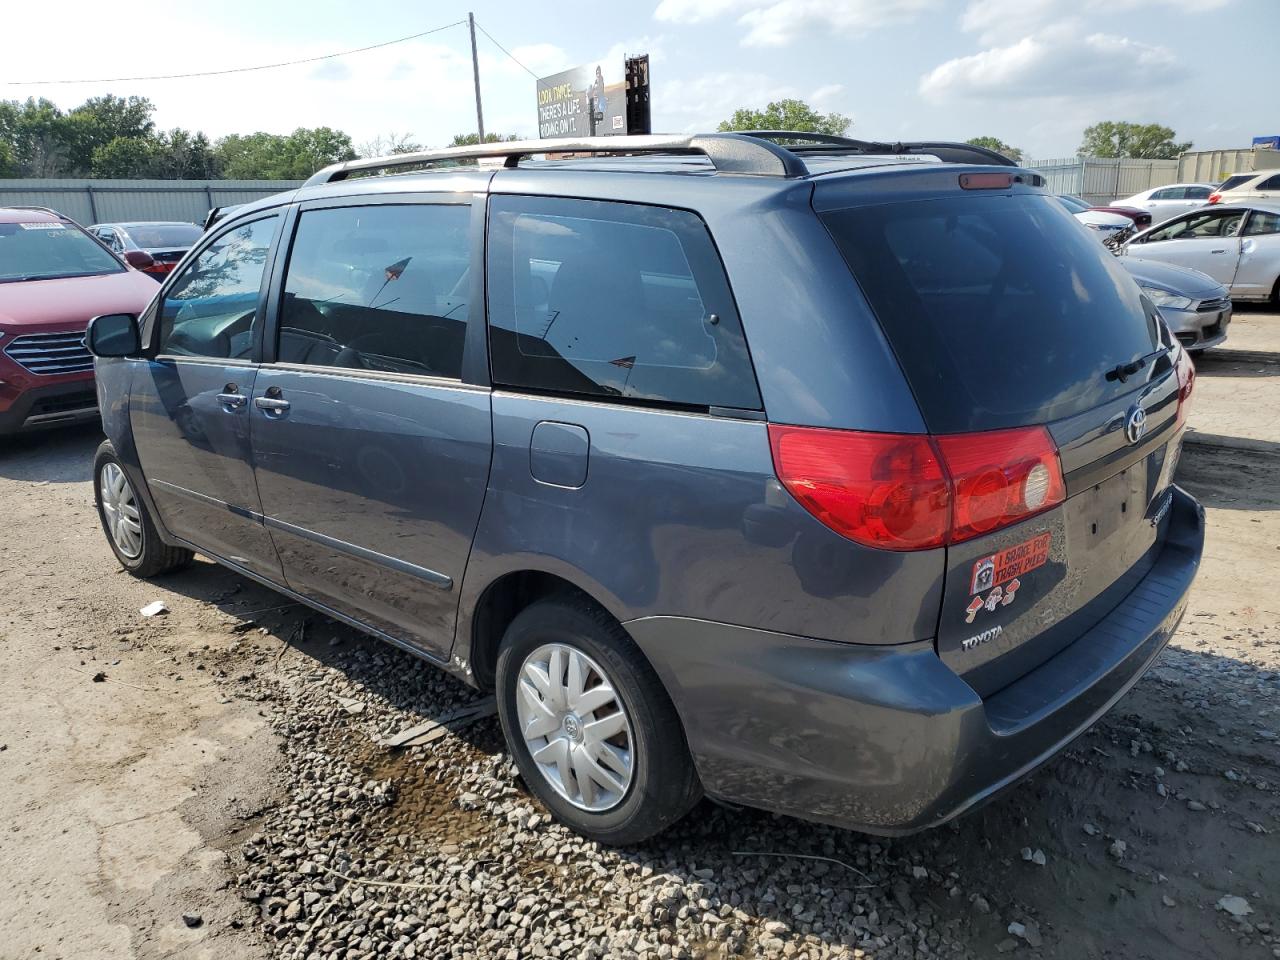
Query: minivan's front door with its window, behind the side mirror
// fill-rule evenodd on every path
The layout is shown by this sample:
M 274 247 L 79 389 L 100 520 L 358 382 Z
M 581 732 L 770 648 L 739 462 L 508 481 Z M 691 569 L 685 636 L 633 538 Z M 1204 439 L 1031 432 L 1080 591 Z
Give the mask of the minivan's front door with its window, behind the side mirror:
M 138 458 L 165 527 L 279 581 L 250 462 L 250 399 L 266 265 L 280 216 L 224 230 L 160 297 L 155 356 L 129 404 Z

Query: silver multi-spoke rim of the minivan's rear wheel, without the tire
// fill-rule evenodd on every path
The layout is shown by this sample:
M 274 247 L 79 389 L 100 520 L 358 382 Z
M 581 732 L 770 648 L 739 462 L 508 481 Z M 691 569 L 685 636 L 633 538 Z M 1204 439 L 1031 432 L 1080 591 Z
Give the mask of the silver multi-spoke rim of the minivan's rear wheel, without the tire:
M 622 803 L 635 771 L 631 718 L 599 663 L 567 644 L 544 644 L 520 666 L 520 733 L 539 773 L 580 810 Z

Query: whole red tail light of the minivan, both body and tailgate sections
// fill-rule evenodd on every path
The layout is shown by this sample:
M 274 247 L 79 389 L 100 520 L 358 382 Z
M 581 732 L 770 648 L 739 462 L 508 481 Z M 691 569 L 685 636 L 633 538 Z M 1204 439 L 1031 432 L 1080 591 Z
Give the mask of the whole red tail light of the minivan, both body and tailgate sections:
M 923 550 L 989 534 L 1065 499 L 1042 426 L 927 436 L 769 424 L 778 479 L 836 532 Z

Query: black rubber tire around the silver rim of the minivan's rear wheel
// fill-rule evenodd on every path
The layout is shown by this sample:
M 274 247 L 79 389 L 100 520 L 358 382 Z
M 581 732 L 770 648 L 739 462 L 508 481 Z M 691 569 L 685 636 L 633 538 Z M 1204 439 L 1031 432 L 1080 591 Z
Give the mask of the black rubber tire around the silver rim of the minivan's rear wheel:
M 521 733 L 520 671 L 549 643 L 575 648 L 603 667 L 630 719 L 631 782 L 621 801 L 599 813 L 556 791 Z M 585 598 L 548 598 L 516 616 L 498 652 L 497 700 L 507 746 L 525 783 L 556 819 L 585 837 L 611 846 L 639 844 L 680 820 L 701 796 L 684 727 L 662 681 L 622 626 Z

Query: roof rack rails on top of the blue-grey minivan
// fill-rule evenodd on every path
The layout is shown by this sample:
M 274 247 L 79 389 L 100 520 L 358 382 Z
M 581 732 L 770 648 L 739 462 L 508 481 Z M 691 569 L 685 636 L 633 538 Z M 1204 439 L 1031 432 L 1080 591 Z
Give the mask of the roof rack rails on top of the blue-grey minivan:
M 783 146 L 776 141 L 799 141 Z M 499 143 L 476 143 L 466 147 L 425 150 L 394 156 L 349 160 L 326 166 L 312 174 L 305 187 L 344 180 L 356 173 L 394 170 L 403 166 L 449 164 L 458 160 L 502 157 L 503 166 L 513 168 L 524 157 L 538 154 L 667 154 L 698 155 L 710 160 L 717 173 L 781 177 L 808 177 L 806 152 L 822 154 L 928 154 L 946 163 L 998 164 L 1016 166 L 1007 156 L 968 143 L 919 142 L 878 143 L 865 140 L 835 137 L 803 131 L 745 131 L 741 133 L 698 133 L 692 136 L 582 137 L 580 140 L 517 140 Z

